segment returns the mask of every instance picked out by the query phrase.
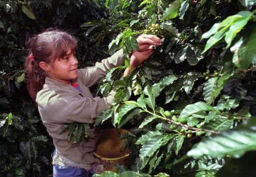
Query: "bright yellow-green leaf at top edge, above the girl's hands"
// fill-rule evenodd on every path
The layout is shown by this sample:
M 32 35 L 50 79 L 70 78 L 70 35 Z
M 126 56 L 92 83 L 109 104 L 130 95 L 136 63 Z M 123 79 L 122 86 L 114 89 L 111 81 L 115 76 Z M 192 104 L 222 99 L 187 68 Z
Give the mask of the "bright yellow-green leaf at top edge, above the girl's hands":
M 178 15 L 181 3 L 183 0 L 174 0 L 169 4 L 169 7 L 165 9 L 165 11 L 162 14 L 163 20 L 169 20 L 172 18 L 175 18 Z

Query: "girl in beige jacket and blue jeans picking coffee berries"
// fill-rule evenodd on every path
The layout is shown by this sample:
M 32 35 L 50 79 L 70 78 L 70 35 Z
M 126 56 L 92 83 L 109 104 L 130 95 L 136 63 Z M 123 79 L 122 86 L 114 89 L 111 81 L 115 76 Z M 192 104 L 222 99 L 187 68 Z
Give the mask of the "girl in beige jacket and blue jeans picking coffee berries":
M 139 51 L 130 57 L 131 68 L 148 59 L 153 52 L 152 45 L 161 43 L 158 37 L 145 34 L 137 41 Z M 92 155 L 100 131 L 92 128 L 88 141 L 82 144 L 68 141 L 67 132 L 63 133 L 61 128 L 72 122 L 93 123 L 93 118 L 111 105 L 114 91 L 107 97 L 93 98 L 88 88 L 104 77 L 110 68 L 124 64 L 122 50 L 93 67 L 78 69 L 77 43 L 67 32 L 48 29 L 30 38 L 28 48 L 31 53 L 25 61 L 26 84 L 53 140 L 53 176 L 91 176 L 103 171 L 102 165 L 98 165 L 99 160 Z M 129 72 L 127 68 L 123 76 Z

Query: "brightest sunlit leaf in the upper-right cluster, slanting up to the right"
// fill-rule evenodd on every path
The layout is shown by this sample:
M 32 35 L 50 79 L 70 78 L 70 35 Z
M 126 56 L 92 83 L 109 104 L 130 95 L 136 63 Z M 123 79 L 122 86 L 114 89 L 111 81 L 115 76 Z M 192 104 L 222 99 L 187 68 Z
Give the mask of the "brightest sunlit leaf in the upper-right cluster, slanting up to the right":
M 235 20 L 229 27 L 229 30 L 225 33 L 225 41 L 227 43 L 226 48 L 228 48 L 231 45 L 231 42 L 233 38 L 236 36 L 236 34 L 240 32 L 240 30 L 247 24 L 249 19 L 253 16 L 253 14 L 249 11 L 244 12 L 247 12 L 247 15 Z

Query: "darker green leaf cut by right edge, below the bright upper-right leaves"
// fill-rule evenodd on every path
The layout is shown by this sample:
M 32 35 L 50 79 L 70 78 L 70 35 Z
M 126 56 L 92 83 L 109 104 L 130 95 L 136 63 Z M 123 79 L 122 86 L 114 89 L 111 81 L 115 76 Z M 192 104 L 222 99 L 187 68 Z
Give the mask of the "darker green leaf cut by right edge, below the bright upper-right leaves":
M 236 67 L 247 69 L 253 60 L 256 60 L 256 28 L 252 29 L 248 42 L 240 47 L 237 52 L 237 60 L 233 60 Z

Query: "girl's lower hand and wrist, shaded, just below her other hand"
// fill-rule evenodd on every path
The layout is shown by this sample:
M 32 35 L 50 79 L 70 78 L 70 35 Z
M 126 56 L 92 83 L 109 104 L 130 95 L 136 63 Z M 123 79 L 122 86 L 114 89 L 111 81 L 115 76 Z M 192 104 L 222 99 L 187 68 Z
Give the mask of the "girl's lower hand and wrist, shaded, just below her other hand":
M 153 47 L 150 45 L 146 50 L 139 52 L 135 51 L 130 56 L 130 69 L 134 69 L 149 58 L 153 53 Z

